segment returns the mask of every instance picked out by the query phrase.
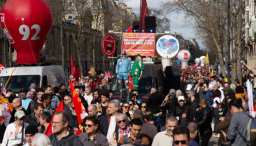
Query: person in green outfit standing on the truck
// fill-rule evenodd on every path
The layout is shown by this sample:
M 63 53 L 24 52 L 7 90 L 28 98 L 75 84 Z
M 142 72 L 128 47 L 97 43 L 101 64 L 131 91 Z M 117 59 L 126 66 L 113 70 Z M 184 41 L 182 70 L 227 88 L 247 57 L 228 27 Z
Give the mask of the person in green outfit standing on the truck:
M 135 87 L 135 90 L 138 91 L 138 85 L 139 85 L 139 80 L 142 77 L 142 73 L 144 70 L 144 65 L 143 61 L 141 59 L 140 54 L 136 56 L 136 61 L 132 65 L 132 70 L 131 70 L 131 77 L 132 77 L 132 84 Z

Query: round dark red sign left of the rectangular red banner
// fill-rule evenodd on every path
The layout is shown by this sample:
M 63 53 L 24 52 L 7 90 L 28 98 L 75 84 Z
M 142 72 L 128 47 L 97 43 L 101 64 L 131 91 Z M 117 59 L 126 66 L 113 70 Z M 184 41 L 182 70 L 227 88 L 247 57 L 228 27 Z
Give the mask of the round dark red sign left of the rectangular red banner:
M 111 34 L 106 34 L 102 39 L 102 51 L 108 57 L 116 52 L 116 39 Z

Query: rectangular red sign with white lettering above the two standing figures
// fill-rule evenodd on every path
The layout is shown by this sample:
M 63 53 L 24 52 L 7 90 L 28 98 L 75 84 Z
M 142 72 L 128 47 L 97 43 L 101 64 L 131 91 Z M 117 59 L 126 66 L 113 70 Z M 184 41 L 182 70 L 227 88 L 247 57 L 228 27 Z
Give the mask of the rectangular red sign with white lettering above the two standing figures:
M 154 56 L 154 33 L 124 33 L 123 51 L 127 55 Z

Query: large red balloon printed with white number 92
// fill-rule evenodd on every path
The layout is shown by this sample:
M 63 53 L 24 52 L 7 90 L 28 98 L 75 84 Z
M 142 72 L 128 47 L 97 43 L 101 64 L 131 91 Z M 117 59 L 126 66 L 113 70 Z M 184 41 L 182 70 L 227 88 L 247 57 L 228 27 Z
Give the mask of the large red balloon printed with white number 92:
M 48 4 L 44 0 L 8 0 L 1 9 L 0 23 L 17 51 L 17 63 L 38 63 L 53 24 Z

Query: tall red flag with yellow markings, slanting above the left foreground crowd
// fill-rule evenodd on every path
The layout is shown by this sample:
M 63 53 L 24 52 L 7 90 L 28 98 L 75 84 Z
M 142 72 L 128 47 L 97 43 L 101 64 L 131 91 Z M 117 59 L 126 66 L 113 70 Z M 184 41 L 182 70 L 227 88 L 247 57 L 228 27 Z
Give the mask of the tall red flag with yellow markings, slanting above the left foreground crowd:
M 78 93 L 75 91 L 74 85 L 72 85 L 70 80 L 69 80 L 69 86 L 71 88 L 72 102 L 75 107 L 75 113 L 77 114 L 77 118 L 78 118 L 79 130 L 78 131 L 75 130 L 75 134 L 79 135 L 83 131 L 83 127 L 81 126 L 81 123 L 83 122 L 83 118 L 85 118 L 86 115 L 88 115 L 88 114 L 86 112 L 86 109 L 83 107 L 82 101 L 81 101 L 80 97 L 78 96 Z

